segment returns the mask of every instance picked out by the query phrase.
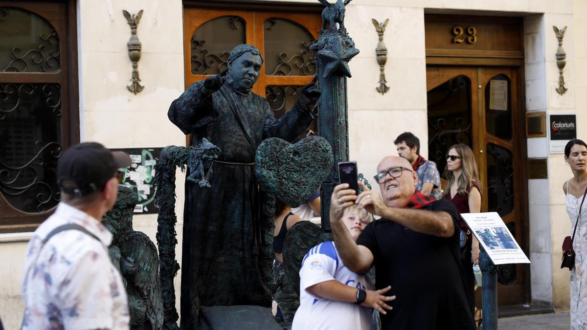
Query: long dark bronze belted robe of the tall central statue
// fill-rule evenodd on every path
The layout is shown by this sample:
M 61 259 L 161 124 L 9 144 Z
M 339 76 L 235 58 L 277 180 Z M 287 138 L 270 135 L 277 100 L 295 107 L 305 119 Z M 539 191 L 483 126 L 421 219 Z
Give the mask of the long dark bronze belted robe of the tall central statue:
M 200 306 L 271 307 L 274 206 L 272 197 L 258 190 L 252 164 L 262 140 L 292 141 L 312 121 L 298 103 L 275 119 L 264 97 L 233 85 L 227 75 L 221 90 L 202 97 L 203 82 L 194 83 L 168 112 L 171 122 L 191 134 L 191 146 L 205 137 L 221 150 L 212 166 L 211 188 L 185 183 L 182 329 L 197 328 Z

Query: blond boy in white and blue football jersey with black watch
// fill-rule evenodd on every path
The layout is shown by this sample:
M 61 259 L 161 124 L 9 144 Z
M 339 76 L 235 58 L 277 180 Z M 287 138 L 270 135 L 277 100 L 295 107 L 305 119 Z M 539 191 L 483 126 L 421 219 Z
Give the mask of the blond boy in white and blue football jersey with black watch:
M 346 208 L 342 221 L 356 241 L 373 216 L 357 206 Z M 332 210 L 331 210 L 332 213 Z M 332 214 L 331 214 L 332 216 Z M 372 308 L 385 314 L 390 287 L 373 291 L 365 275 L 342 264 L 332 241 L 311 248 L 303 258 L 300 277 L 300 307 L 292 329 L 370 329 Z

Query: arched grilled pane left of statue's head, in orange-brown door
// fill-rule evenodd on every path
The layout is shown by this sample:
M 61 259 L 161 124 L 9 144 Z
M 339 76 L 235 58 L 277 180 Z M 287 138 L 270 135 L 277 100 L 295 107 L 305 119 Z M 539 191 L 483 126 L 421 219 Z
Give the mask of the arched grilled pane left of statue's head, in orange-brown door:
M 212 42 L 206 45 L 207 40 Z M 191 73 L 216 75 L 227 68 L 230 50 L 246 43 L 245 21 L 238 16 L 222 16 L 205 22 L 191 37 Z

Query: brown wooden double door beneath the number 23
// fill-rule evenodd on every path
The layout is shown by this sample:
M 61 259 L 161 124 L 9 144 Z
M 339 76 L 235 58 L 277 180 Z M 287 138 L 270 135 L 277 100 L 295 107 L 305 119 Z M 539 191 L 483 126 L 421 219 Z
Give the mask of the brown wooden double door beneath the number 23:
M 446 155 L 453 144 L 473 150 L 480 172 L 481 211 L 495 211 L 527 250 L 523 193 L 527 179 L 521 143 L 519 69 L 509 66 L 428 66 L 429 159 L 444 176 Z M 493 90 L 492 90 L 493 89 Z M 493 92 L 493 93 L 492 93 Z M 504 265 L 498 274 L 498 304 L 525 302 L 529 292 L 524 265 Z M 475 299 L 481 304 L 480 292 Z

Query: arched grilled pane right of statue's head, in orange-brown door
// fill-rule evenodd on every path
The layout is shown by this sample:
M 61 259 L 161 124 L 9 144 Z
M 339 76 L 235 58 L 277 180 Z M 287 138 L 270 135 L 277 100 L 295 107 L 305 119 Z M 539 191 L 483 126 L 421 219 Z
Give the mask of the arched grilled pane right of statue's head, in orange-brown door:
M 283 18 L 264 23 L 265 73 L 270 76 L 312 76 L 316 61 L 310 45 L 311 33 L 301 25 Z

